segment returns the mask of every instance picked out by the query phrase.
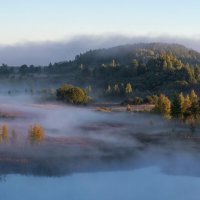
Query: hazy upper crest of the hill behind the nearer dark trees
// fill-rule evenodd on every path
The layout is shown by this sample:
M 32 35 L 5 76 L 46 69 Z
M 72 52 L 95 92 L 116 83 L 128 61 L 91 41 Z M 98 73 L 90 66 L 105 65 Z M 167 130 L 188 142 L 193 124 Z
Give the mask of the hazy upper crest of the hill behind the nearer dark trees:
M 133 45 L 117 46 L 109 49 L 90 50 L 77 55 L 75 62 L 94 67 L 97 64 L 108 64 L 115 59 L 120 65 L 127 65 L 133 59 L 146 63 L 150 58 L 162 54 L 174 55 L 183 63 L 200 64 L 200 53 L 179 44 L 166 43 L 140 43 Z

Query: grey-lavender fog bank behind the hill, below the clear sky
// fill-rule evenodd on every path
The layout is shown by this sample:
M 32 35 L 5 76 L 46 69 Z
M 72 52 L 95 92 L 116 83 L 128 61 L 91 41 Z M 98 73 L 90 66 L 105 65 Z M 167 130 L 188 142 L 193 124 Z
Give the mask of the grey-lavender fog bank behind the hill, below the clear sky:
M 80 35 L 71 39 L 44 42 L 24 42 L 0 46 L 0 63 L 48 65 L 50 62 L 73 60 L 77 54 L 90 49 L 109 48 L 139 42 L 179 43 L 200 51 L 200 39 L 174 36 Z

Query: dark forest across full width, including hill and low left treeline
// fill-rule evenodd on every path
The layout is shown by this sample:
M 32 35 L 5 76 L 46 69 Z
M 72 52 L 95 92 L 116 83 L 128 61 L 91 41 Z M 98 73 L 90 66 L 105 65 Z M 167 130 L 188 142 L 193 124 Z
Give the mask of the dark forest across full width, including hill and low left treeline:
M 24 89 L 76 84 L 91 96 L 104 98 L 160 93 L 172 96 L 192 89 L 200 93 L 200 53 L 178 44 L 124 45 L 90 50 L 72 61 L 48 66 L 2 64 L 0 77 Z

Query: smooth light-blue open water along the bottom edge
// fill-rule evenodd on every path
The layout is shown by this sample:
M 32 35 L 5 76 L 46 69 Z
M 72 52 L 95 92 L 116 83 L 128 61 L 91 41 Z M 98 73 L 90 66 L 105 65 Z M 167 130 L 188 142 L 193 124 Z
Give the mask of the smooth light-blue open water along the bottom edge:
M 3 200 L 199 200 L 200 178 L 168 176 L 158 168 L 78 173 L 66 177 L 8 175 Z

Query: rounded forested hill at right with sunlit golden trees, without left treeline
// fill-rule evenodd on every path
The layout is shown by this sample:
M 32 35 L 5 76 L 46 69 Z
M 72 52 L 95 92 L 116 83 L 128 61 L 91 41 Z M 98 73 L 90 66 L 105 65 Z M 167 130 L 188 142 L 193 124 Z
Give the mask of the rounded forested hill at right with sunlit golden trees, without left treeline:
M 121 94 L 127 83 L 145 93 L 199 91 L 200 53 L 178 44 L 141 43 L 90 50 L 54 69 L 65 69 L 66 65 L 77 69 L 82 84 L 112 90 L 112 95 Z

